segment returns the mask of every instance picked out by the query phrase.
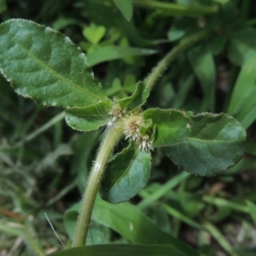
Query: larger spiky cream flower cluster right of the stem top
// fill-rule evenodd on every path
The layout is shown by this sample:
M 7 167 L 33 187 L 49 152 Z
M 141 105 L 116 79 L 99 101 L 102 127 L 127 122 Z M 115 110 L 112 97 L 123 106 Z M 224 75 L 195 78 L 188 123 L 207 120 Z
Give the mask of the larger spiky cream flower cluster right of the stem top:
M 125 139 L 131 137 L 141 150 L 153 149 L 150 137 L 148 135 L 143 135 L 140 132 L 141 127 L 145 125 L 142 114 L 131 113 L 131 115 L 127 115 L 123 121 Z

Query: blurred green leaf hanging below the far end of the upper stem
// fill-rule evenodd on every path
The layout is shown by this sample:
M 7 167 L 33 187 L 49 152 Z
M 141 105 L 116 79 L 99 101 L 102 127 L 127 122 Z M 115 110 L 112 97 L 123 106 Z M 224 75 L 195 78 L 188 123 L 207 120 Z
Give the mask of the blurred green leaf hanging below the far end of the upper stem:
M 189 51 L 189 61 L 203 90 L 202 110 L 213 111 L 216 72 L 212 53 L 202 45 L 196 46 Z

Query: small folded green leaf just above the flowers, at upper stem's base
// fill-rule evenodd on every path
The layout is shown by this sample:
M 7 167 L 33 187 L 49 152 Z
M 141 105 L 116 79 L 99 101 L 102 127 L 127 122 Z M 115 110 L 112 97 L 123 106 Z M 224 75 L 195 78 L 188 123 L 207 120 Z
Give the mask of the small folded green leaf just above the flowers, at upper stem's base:
M 142 106 L 147 101 L 148 96 L 148 86 L 143 82 L 139 82 L 137 84 L 136 90 L 131 96 L 126 97 L 125 99 L 121 99 L 117 102 L 121 108 L 128 108 L 128 110 L 131 111 Z

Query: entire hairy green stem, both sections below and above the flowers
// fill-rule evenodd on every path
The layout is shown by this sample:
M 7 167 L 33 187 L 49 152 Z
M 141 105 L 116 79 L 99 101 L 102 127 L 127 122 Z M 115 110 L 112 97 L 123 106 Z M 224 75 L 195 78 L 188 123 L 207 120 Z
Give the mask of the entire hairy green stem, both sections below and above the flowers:
M 186 42 L 183 44 L 180 44 L 176 48 L 172 49 L 172 51 L 158 63 L 158 65 L 153 69 L 152 73 L 148 75 L 148 78 L 145 79 L 148 88 L 152 89 L 155 81 L 166 70 L 166 67 L 177 57 L 178 54 L 183 52 L 183 50 L 188 49 L 202 38 L 206 38 L 208 35 L 208 31 L 200 32 L 186 40 Z M 121 136 L 122 131 L 123 126 L 119 122 L 113 124 L 108 127 L 108 132 L 102 141 L 96 156 L 96 161 L 94 162 L 90 172 L 87 186 L 84 190 L 84 197 L 79 210 L 79 218 L 76 224 L 76 230 L 73 238 L 73 247 L 84 246 L 85 244 L 86 236 L 90 226 L 90 216 L 96 199 L 98 187 L 101 182 L 105 166 L 108 162 L 109 155 L 111 154 L 114 145 L 119 141 L 119 137 Z

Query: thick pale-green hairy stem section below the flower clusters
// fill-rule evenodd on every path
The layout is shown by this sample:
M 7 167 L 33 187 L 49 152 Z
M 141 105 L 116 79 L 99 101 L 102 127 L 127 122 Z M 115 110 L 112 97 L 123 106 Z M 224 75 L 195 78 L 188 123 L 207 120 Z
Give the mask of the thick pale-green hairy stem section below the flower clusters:
M 73 239 L 73 247 L 84 246 L 86 236 L 89 230 L 90 215 L 96 199 L 99 183 L 102 179 L 105 166 L 108 162 L 109 155 L 111 154 L 114 145 L 119 141 L 119 137 L 123 132 L 123 127 L 119 123 L 112 125 L 108 128 L 108 132 L 104 137 L 96 161 L 90 171 L 87 186 L 84 190 L 84 197 L 82 205 L 79 210 L 79 218 L 76 224 L 76 230 Z

